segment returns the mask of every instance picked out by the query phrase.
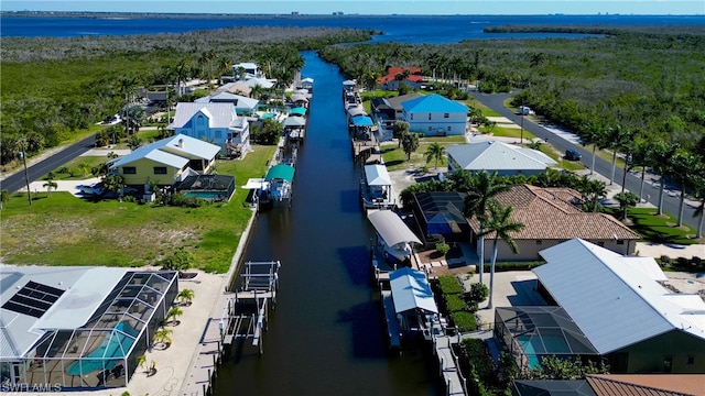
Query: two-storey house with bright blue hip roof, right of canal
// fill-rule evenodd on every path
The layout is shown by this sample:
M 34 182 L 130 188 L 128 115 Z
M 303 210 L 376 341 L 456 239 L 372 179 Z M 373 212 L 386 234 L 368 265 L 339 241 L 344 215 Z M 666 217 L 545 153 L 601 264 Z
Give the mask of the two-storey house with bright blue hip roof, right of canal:
M 411 132 L 424 136 L 463 135 L 467 129 L 469 108 L 437 94 L 422 96 L 401 103 L 403 120 Z

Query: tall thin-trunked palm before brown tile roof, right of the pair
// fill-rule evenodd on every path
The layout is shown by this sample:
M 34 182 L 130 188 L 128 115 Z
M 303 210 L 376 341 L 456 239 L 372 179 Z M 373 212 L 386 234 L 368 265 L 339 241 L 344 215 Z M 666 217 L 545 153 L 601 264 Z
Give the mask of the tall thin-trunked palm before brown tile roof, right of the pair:
M 487 308 L 492 309 L 492 292 L 495 290 L 495 265 L 497 263 L 497 242 L 501 239 L 507 243 L 512 253 L 519 253 L 517 242 L 511 237 L 511 233 L 519 232 L 527 227 L 522 222 L 512 221 L 511 213 L 514 208 L 508 206 L 503 208 L 496 200 L 488 202 L 489 216 L 486 219 L 487 229 L 482 231 L 484 235 L 494 234 L 492 239 L 492 262 L 489 270 L 489 302 Z

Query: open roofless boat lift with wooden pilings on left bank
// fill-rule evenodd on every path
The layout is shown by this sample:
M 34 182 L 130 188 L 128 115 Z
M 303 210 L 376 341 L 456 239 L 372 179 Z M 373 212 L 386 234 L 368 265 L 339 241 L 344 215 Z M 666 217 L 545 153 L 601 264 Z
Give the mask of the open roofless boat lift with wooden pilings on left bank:
M 260 354 L 264 353 L 262 331 L 267 331 L 269 309 L 276 304 L 280 267 L 279 261 L 245 263 L 239 286 L 228 301 L 227 338 L 252 339 Z

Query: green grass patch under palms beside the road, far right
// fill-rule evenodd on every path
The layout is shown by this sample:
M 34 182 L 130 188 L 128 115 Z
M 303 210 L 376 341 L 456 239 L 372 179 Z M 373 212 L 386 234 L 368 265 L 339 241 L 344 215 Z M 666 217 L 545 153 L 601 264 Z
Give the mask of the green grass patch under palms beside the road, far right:
M 608 208 L 607 212 L 620 218 L 619 208 Z M 630 228 L 644 241 L 654 243 L 695 244 L 695 230 L 690 227 L 677 228 L 676 218 L 670 215 L 657 216 L 655 208 L 629 208 Z

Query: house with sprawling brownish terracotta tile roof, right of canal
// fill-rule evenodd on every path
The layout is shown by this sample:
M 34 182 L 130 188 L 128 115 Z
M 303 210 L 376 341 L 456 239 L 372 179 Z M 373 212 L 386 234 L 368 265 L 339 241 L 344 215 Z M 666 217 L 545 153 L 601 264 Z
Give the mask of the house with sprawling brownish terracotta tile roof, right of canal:
M 539 252 L 573 238 L 603 245 L 619 254 L 633 254 L 636 241 L 641 237 L 606 213 L 584 212 L 575 205 L 581 195 L 570 188 L 541 188 L 516 185 L 496 197 L 503 207 L 512 206 L 512 221 L 525 224 L 512 238 L 519 246 L 513 254 L 503 242 L 498 242 L 499 261 L 540 260 Z M 474 235 L 479 233 L 477 219 L 468 219 Z M 492 234 L 485 238 L 485 258 L 492 252 Z M 476 241 L 476 243 L 479 243 Z M 478 249 L 479 251 L 479 249 Z

